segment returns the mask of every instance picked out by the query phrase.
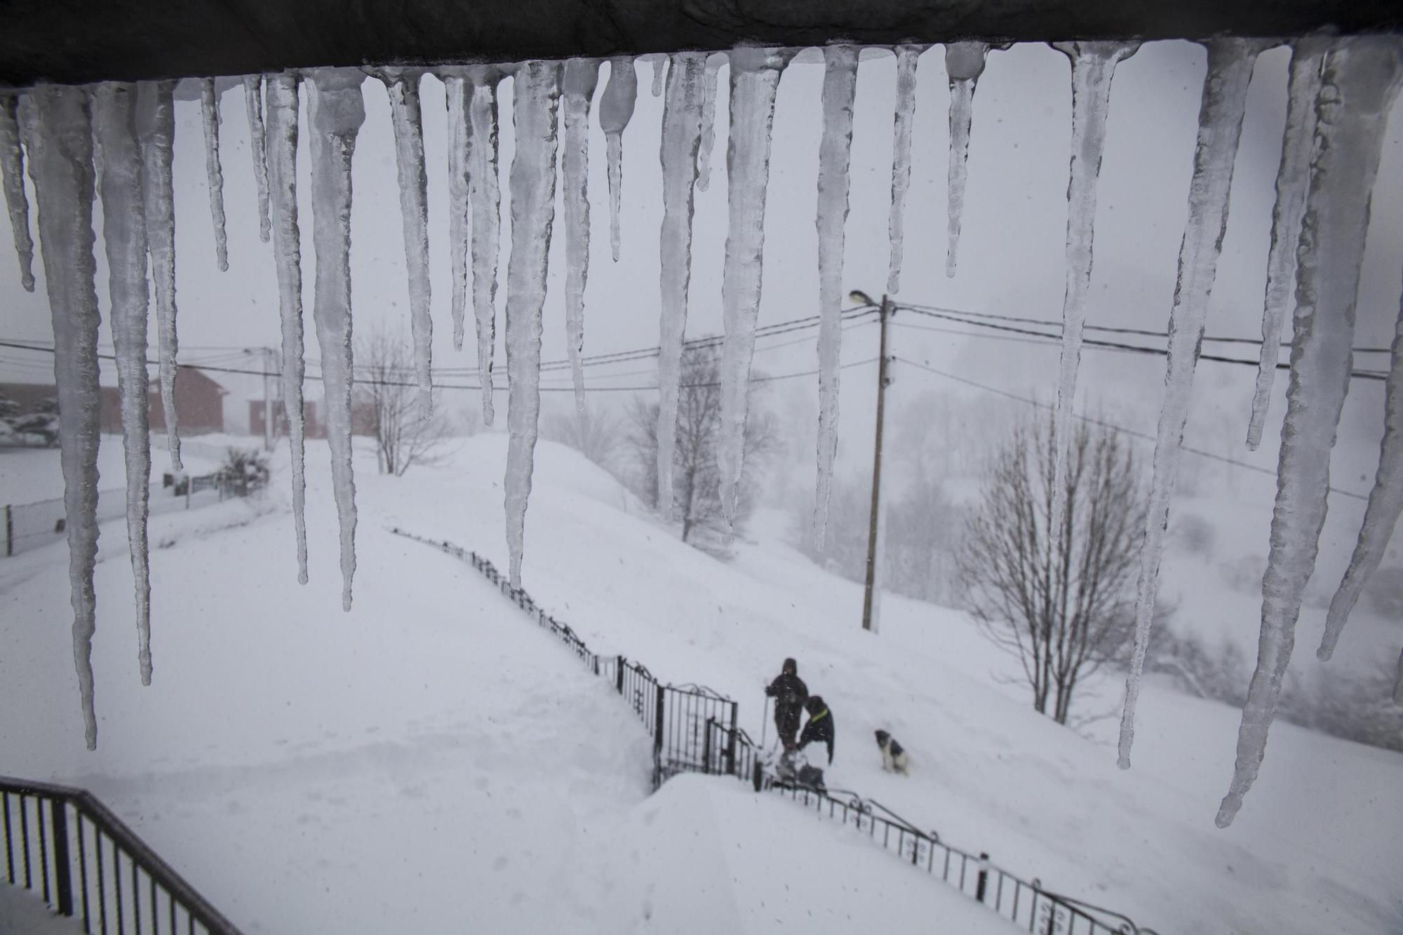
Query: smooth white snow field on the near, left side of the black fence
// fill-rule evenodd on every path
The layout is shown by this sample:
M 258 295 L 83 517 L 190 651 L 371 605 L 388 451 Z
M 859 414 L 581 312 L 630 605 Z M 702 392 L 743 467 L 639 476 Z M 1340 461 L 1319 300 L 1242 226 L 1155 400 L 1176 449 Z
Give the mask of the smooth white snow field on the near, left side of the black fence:
M 471 569 L 384 529 L 455 510 L 455 475 L 498 442 L 400 480 L 359 460 L 349 614 L 324 446 L 310 455 L 307 587 L 281 487 L 153 518 L 149 688 L 125 528 L 105 524 L 97 752 L 83 748 L 63 546 L 0 564 L 0 774 L 94 790 L 250 932 L 1010 931 L 854 831 L 735 781 L 648 797 L 651 740 L 610 688 Z M 543 460 L 557 463 L 543 497 L 549 477 L 572 477 L 557 497 L 588 510 L 584 483 L 624 503 L 570 452 Z M 474 515 L 499 511 L 495 490 L 469 494 Z

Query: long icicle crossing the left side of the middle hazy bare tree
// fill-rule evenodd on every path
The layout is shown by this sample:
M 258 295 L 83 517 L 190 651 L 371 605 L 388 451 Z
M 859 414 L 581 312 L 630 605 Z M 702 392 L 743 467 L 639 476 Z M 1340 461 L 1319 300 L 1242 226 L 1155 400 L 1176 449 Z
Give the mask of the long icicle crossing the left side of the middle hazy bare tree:
M 692 279 L 692 205 L 702 143 L 706 91 L 704 52 L 679 52 L 668 72 L 662 108 L 662 314 L 658 351 L 658 508 L 672 518 L 672 453 L 678 431 L 682 340 L 687 327 L 687 285 Z

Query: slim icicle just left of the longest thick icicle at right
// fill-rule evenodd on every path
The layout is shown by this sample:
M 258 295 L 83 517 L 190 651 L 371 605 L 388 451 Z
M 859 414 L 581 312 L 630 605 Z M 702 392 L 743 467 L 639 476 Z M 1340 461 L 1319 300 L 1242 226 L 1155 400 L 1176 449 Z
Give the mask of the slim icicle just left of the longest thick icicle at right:
M 1315 100 L 1320 94 L 1320 62 L 1329 39 L 1298 39 L 1291 53 L 1287 91 L 1287 129 L 1281 136 L 1281 166 L 1277 168 L 1277 204 L 1271 209 L 1271 251 L 1267 254 L 1267 298 L 1261 310 L 1261 358 L 1257 389 L 1251 396 L 1247 448 L 1257 451 L 1271 404 L 1271 386 L 1281 357 L 1281 326 L 1291 303 L 1296 277 L 1296 243 L 1301 215 L 1310 184 L 1310 143 L 1315 139 Z

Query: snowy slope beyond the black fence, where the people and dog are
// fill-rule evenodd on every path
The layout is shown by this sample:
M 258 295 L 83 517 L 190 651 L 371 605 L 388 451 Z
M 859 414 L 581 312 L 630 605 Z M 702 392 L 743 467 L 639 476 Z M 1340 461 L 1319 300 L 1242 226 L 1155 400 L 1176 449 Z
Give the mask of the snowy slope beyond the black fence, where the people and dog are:
M 386 515 L 505 567 L 504 452 L 501 437 L 473 439 L 452 466 L 422 472 L 418 491 L 386 500 Z M 1135 768 L 1121 772 L 1114 723 L 1086 740 L 1035 715 L 967 615 L 887 597 L 881 635 L 864 633 L 860 588 L 781 545 L 776 525 L 760 517 L 758 541 L 718 563 L 574 452 L 542 445 L 523 584 L 596 651 L 738 698 L 756 737 L 760 688 L 796 656 L 838 722 L 832 786 L 1054 891 L 1160 932 L 1403 929 L 1403 755 L 1278 723 L 1247 804 L 1219 830 L 1237 710 L 1149 679 Z M 1087 692 L 1114 709 L 1118 678 Z M 912 776 L 881 772 L 878 727 L 912 751 Z

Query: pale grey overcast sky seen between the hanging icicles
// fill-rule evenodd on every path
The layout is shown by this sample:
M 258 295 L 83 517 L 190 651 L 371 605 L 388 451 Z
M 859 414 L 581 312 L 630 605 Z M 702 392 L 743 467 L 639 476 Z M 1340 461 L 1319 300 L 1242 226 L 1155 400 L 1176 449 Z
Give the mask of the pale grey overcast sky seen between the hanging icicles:
M 1173 299 L 1179 243 L 1193 163 L 1194 126 L 1202 73 L 1202 48 L 1183 42 L 1145 46 L 1115 74 L 1107 150 L 1101 170 L 1096 226 L 1096 267 L 1089 309 L 1092 323 L 1163 330 Z M 1260 336 L 1273 185 L 1281 149 L 1289 53 L 1267 52 L 1251 83 L 1242 147 L 1232 191 L 1232 213 L 1218 267 L 1208 333 Z M 857 81 L 852 154 L 852 213 L 847 219 L 845 286 L 878 296 L 887 275 L 887 219 L 891 198 L 891 146 L 895 59 L 885 52 L 864 58 Z M 623 256 L 609 258 L 609 202 L 603 135 L 592 114 L 589 201 L 592 261 L 586 291 L 585 352 L 603 354 L 658 341 L 658 229 L 662 219 L 658 164 L 662 98 L 650 93 L 652 69 L 638 65 L 640 97 L 624 135 Z M 605 66 L 599 87 L 607 79 Z M 720 73 L 717 146 L 711 187 L 697 192 L 693 240 L 689 336 L 718 333 L 721 327 L 721 268 L 725 246 L 725 83 Z M 810 52 L 790 65 L 780 83 L 774 118 L 774 146 L 766 215 L 765 292 L 760 323 L 784 321 L 815 313 L 817 233 L 814 226 L 818 140 L 822 129 L 819 91 L 822 66 Z M 366 80 L 366 122 L 354 163 L 352 268 L 355 326 L 403 326 L 407 333 L 407 285 L 398 215 L 393 135 L 383 86 Z M 502 91 L 502 256 L 499 263 L 498 334 L 505 306 L 506 257 L 511 244 L 506 175 L 512 159 L 511 80 Z M 425 149 L 429 180 L 429 230 L 434 274 L 434 355 L 438 366 L 471 366 L 473 351 L 452 348 L 449 316 L 449 248 L 446 216 L 446 117 L 443 88 L 434 77 L 422 83 Z M 303 94 L 303 102 L 306 95 Z M 1063 240 L 1070 133 L 1068 60 L 1044 45 L 1019 45 L 995 52 L 979 80 L 969 147 L 960 271 L 944 275 L 946 170 L 948 93 L 944 56 L 934 46 L 920 58 L 918 111 L 913 133 L 912 185 L 906 213 L 905 270 L 899 299 L 972 312 L 996 312 L 1059 319 L 1063 292 Z M 276 345 L 279 341 L 276 279 L 271 244 L 258 240 L 257 198 L 248 150 L 248 126 L 241 90 L 223 95 L 222 154 L 224 206 L 229 218 L 230 270 L 217 272 L 205 183 L 199 108 L 177 105 L 175 201 L 177 277 L 182 359 L 234 359 L 219 348 Z M 303 105 L 303 133 L 306 105 Z M 1369 247 L 1360 295 L 1357 345 L 1385 347 L 1399 309 L 1403 257 L 1403 118 L 1395 111 L 1379 184 L 1375 188 Z M 303 234 L 303 281 L 307 309 L 307 352 L 318 357 L 311 329 L 313 248 L 310 161 L 303 135 L 299 159 Z M 31 191 L 32 195 L 32 191 Z M 97 219 L 101 230 L 100 218 Z M 31 226 L 32 219 L 31 219 Z M 564 357 L 564 226 L 557 201 L 551 247 L 550 295 L 546 305 L 544 357 Z M 7 225 L 0 225 L 0 331 L 6 337 L 52 340 L 42 268 L 34 295 L 20 288 Z M 98 295 L 107 317 L 107 268 L 98 240 Z M 943 327 L 904 313 L 899 324 Z M 954 330 L 972 331 L 953 326 Z M 471 326 L 469 326 L 471 334 Z M 767 373 L 812 369 L 814 341 L 760 350 L 756 368 Z M 845 336 L 843 359 L 875 355 L 875 326 Z M 104 327 L 104 344 L 109 336 Z M 154 327 L 152 345 L 154 348 Z M 1051 399 L 1058 352 L 984 337 L 918 331 L 897 327 L 894 352 L 1005 390 Z M 188 350 L 187 350 L 188 348 Z M 1254 348 L 1232 348 L 1253 357 Z M 501 348 L 498 365 L 504 362 Z M 1382 355 L 1357 364 L 1381 366 Z M 25 366 L 21 361 L 29 361 Z M 0 380 L 39 379 L 48 361 L 17 351 L 0 354 Z M 589 371 L 598 385 L 645 385 L 648 362 Z M 606 373 L 622 373 L 609 376 Z M 1261 452 L 1242 445 L 1251 400 L 1254 371 L 1246 366 L 1201 364 L 1188 438 L 1233 456 L 1274 466 L 1277 430 L 1284 411 L 1284 375 L 1277 382 L 1273 420 Z M 866 463 L 871 432 L 871 366 L 843 372 L 843 463 L 857 470 Z M 547 386 L 568 385 L 557 372 Z M 1087 351 L 1080 396 L 1121 421 L 1153 431 L 1163 386 L 1163 358 Z M 309 387 L 310 389 L 310 387 Z M 774 386 L 784 397 L 817 397 L 815 378 Z M 967 386 L 897 371 L 891 406 L 916 406 L 923 393 L 978 393 Z M 311 390 L 311 394 L 318 394 Z M 615 394 L 617 399 L 617 394 Z M 466 400 L 464 400 L 466 402 Z M 499 402 L 504 411 L 505 400 Z M 815 403 L 817 406 L 817 403 Z M 1355 380 L 1347 403 L 1336 458 L 1336 483 L 1367 490 L 1378 459 L 1382 431 L 1382 383 Z M 852 451 L 849 451 L 852 449 Z

